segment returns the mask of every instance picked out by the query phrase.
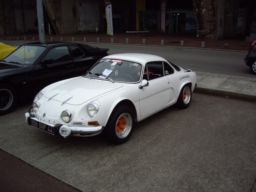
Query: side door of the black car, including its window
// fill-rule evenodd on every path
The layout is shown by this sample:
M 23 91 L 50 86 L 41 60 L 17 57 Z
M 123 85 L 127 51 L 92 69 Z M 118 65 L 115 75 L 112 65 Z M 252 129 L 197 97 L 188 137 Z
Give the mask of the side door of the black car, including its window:
M 34 88 L 37 90 L 72 77 L 75 77 L 75 66 L 68 45 L 52 47 L 33 70 Z

